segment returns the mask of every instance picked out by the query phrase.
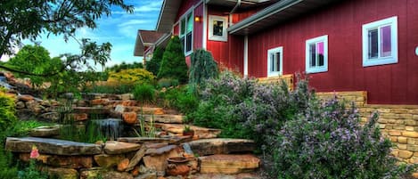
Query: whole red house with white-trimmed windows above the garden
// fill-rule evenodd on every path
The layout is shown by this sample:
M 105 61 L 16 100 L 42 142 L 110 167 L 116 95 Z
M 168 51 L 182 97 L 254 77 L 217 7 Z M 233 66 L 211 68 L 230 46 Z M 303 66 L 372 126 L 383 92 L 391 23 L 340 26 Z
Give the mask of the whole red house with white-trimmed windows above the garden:
M 305 72 L 318 92 L 416 105 L 416 10 L 415 0 L 164 0 L 156 31 L 179 36 L 186 61 L 203 48 L 245 76 Z

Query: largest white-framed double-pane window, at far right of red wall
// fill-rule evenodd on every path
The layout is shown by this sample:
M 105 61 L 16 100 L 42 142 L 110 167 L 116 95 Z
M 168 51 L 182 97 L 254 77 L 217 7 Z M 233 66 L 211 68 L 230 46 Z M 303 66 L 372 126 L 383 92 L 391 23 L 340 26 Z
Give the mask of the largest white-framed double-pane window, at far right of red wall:
M 363 25 L 363 67 L 398 62 L 398 17 Z

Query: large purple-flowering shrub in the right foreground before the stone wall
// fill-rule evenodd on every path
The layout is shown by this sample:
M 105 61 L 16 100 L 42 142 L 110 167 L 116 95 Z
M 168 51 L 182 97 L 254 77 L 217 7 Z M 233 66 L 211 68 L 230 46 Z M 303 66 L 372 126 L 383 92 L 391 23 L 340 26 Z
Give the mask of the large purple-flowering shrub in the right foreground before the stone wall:
M 398 178 L 412 166 L 397 166 L 391 143 L 381 136 L 373 114 L 361 126 L 357 109 L 334 99 L 311 102 L 285 122 L 275 143 L 276 178 Z

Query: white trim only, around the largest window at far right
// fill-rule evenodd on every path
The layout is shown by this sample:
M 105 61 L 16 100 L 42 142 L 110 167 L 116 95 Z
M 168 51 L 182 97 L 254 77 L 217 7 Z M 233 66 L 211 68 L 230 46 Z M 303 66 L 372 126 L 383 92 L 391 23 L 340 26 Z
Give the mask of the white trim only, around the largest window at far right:
M 369 38 L 368 31 L 369 29 L 379 28 L 381 26 L 390 25 L 390 40 L 391 40 L 391 50 L 392 56 L 389 57 L 378 57 L 377 59 L 369 59 Z M 386 65 L 398 63 L 398 16 L 393 16 L 384 20 L 373 21 L 363 25 L 362 30 L 363 37 L 363 67 L 370 67 L 376 65 Z M 380 37 L 379 37 L 380 38 Z M 381 45 L 379 46 L 379 55 Z

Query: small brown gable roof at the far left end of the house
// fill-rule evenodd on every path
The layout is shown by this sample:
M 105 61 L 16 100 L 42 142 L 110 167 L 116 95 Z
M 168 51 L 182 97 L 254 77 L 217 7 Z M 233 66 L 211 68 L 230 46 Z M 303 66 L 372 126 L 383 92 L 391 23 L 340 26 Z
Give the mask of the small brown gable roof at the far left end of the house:
M 134 56 L 143 56 L 145 46 L 152 46 L 165 34 L 155 30 L 138 30 L 135 41 Z

